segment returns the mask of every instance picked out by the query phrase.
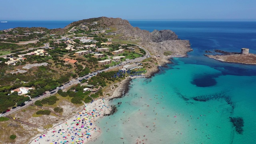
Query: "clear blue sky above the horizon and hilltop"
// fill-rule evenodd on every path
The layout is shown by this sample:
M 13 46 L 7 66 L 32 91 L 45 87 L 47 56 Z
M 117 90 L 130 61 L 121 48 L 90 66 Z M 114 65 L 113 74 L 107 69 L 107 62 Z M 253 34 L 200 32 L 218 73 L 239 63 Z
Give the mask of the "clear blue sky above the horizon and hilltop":
M 256 0 L 0 0 L 0 20 L 256 20 Z

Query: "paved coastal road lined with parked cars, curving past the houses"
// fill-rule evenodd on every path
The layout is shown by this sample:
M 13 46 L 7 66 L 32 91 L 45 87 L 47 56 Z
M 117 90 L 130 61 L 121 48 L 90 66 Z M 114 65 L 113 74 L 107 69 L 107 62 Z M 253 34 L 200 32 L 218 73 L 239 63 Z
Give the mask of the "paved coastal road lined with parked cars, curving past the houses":
M 92 72 L 91 74 L 88 74 L 88 75 L 86 75 L 86 76 L 80 77 L 80 78 L 78 78 L 78 79 L 72 79 L 72 80 L 70 80 L 70 81 L 72 81 L 72 82 L 69 81 L 68 84 L 66 84 L 66 85 L 63 84 L 63 85 L 64 85 L 63 88 L 64 88 L 64 89 L 68 89 L 68 88 L 70 88 L 72 85 L 78 84 L 78 83 L 79 83 L 79 80 L 82 80 L 83 78 L 88 77 L 88 76 L 90 76 L 90 75 L 97 74 L 97 73 L 103 72 L 103 71 L 108 71 L 108 70 L 117 68 L 117 67 L 119 67 L 119 66 L 121 66 L 121 65 L 128 64 L 128 63 L 131 63 L 131 62 L 140 62 L 140 61 L 144 60 L 145 58 L 147 58 L 148 56 L 150 56 L 150 52 L 149 52 L 148 50 L 146 50 L 146 48 L 143 48 L 143 47 L 140 46 L 140 45 L 136 45 L 136 46 L 138 46 L 139 48 L 142 48 L 143 50 L 145 50 L 145 51 L 146 51 L 146 55 L 143 56 L 143 57 L 136 58 L 135 60 L 126 60 L 126 61 L 124 61 L 124 62 L 121 62 L 119 65 L 112 66 L 112 67 L 110 67 L 110 68 L 106 68 L 106 69 L 100 70 L 100 71 L 98 71 L 98 72 Z M 39 98 L 36 98 L 36 99 L 32 98 L 32 99 L 31 99 L 32 101 L 27 102 L 25 106 L 23 106 L 23 107 L 17 107 L 17 108 L 15 108 L 15 109 L 11 109 L 9 112 L 6 112 L 4 115 L 12 114 L 13 112 L 16 112 L 16 111 L 18 111 L 18 110 L 20 110 L 20 109 L 22 109 L 22 108 L 26 108 L 26 107 L 29 106 L 29 104 L 33 104 L 36 100 L 42 100 L 43 98 L 46 98 L 46 97 L 48 97 L 48 96 L 52 96 L 52 95 L 54 95 L 54 94 L 56 94 L 56 93 L 58 92 L 58 89 L 53 90 L 53 91 L 56 91 L 56 92 L 54 92 L 53 94 L 50 94 L 50 92 L 46 92 L 46 94 L 44 94 L 43 96 L 40 96 Z M 53 91 L 52 91 L 52 92 L 53 92 Z

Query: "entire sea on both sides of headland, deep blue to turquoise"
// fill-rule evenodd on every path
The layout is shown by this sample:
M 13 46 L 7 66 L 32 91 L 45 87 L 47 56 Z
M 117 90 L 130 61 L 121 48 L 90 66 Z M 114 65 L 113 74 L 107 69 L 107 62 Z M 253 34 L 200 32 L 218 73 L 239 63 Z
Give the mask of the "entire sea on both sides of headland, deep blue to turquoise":
M 70 23 L 51 22 L 15 27 L 63 28 Z M 204 56 L 209 54 L 206 50 L 215 49 L 240 52 L 241 48 L 250 48 L 249 52 L 256 54 L 256 22 L 130 21 L 130 24 L 150 32 L 172 30 L 180 39 L 189 40 L 193 51 L 186 58 L 173 58 L 172 64 L 160 67 L 152 78 L 133 79 L 122 98 L 110 101 L 117 112 L 98 119 L 102 133 L 90 143 L 256 143 L 256 66 Z M 6 29 L 2 26 L 0 29 Z

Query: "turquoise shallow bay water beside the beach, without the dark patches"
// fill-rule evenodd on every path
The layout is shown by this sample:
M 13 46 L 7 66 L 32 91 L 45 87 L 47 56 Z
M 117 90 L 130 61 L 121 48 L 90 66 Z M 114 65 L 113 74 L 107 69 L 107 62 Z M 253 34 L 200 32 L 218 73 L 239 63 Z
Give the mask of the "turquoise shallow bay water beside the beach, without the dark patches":
M 222 75 L 210 66 L 175 62 L 150 79 L 134 79 L 128 94 L 111 102 L 122 104 L 99 121 L 103 133 L 96 143 L 253 144 L 256 76 Z M 216 76 L 216 85 L 193 84 L 207 75 Z M 209 100 L 199 102 L 197 96 Z M 244 120 L 242 135 L 230 122 L 237 116 Z

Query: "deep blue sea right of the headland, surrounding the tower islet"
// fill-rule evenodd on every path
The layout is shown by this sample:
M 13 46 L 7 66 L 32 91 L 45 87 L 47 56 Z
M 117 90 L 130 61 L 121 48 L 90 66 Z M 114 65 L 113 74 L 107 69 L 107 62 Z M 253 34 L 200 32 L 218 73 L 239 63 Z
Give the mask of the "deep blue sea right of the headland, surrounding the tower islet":
M 208 54 L 206 50 L 215 49 L 240 52 L 241 48 L 250 48 L 249 52 L 256 54 L 256 22 L 130 21 L 130 24 L 150 32 L 172 30 L 178 38 L 189 40 L 193 49 L 190 58 L 180 58 L 186 63 L 212 66 L 223 74 L 256 75 L 255 66 L 228 64 L 204 56 Z

